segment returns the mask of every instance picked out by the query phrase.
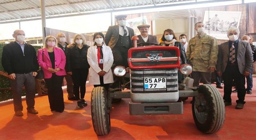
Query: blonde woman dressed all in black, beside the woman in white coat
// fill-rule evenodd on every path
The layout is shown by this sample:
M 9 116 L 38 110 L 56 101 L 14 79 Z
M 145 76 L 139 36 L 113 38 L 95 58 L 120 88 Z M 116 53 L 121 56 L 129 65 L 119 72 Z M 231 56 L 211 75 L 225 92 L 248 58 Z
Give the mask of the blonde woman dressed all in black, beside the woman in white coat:
M 87 61 L 87 50 L 89 47 L 90 46 L 85 44 L 84 36 L 82 34 L 76 34 L 74 36 L 73 44 L 68 45 L 66 51 L 66 72 L 67 74 L 72 75 L 74 84 L 73 92 L 76 100 L 78 100 L 78 108 L 87 106 L 87 103 L 84 100 L 84 95 L 86 92 L 86 79 L 90 68 Z

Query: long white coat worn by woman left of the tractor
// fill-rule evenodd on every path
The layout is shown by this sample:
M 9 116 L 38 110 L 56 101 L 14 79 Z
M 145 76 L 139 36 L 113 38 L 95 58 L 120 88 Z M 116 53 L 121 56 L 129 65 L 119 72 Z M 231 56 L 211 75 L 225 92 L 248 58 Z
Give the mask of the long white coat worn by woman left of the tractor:
M 112 50 L 109 46 L 105 44 L 102 45 L 103 52 L 103 70 L 107 72 L 103 76 L 104 84 L 113 83 L 113 74 L 111 70 L 111 66 L 114 62 Z M 98 64 L 98 49 L 97 46 L 91 46 L 88 48 L 87 52 L 87 60 L 90 65 L 89 68 L 89 84 L 98 85 L 100 84 L 100 76 L 98 73 L 102 71 Z

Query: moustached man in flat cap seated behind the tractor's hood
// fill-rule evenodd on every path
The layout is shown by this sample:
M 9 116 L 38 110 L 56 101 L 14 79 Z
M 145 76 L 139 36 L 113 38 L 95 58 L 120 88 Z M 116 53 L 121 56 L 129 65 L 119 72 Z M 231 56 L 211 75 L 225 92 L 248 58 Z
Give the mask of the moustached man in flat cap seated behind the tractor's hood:
M 150 27 L 150 25 L 146 25 L 146 24 L 137 26 L 137 28 L 140 30 L 140 35 L 138 35 L 138 38 L 139 38 L 138 43 L 140 43 L 140 44 L 138 44 L 138 47 L 151 46 L 151 45 L 158 44 L 156 36 L 152 36 L 152 35 L 148 34 L 149 27 Z M 153 44 L 150 42 L 153 42 L 156 44 Z

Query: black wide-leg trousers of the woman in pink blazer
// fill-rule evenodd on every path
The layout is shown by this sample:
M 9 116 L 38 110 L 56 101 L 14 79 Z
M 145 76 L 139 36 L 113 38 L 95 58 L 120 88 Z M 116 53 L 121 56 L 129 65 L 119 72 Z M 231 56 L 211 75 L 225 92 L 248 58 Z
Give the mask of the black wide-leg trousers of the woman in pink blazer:
M 62 82 L 64 76 L 52 75 L 49 79 L 44 79 L 48 88 L 48 99 L 50 109 L 62 112 L 64 110 L 64 99 Z

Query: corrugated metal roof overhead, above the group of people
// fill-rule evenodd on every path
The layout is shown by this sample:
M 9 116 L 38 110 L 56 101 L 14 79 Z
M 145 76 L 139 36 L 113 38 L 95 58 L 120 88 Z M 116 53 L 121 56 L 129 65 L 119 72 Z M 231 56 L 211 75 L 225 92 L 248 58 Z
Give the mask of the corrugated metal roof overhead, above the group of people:
M 0 24 L 41 19 L 41 0 L 0 0 Z M 44 0 L 46 18 L 228 0 Z

